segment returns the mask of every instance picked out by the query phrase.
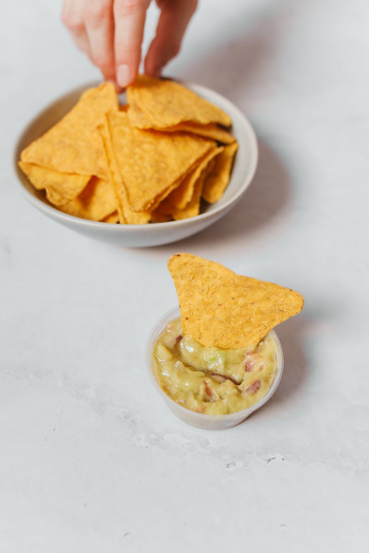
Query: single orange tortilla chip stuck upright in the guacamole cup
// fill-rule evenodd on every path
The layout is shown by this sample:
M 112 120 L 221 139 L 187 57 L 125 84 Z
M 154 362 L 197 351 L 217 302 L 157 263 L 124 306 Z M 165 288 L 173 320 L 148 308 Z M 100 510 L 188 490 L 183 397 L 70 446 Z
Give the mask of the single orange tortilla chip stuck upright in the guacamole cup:
M 172 255 L 168 269 L 178 295 L 183 332 L 202 346 L 238 349 L 257 345 L 272 328 L 303 309 L 304 299 L 298 292 L 237 275 L 196 255 Z

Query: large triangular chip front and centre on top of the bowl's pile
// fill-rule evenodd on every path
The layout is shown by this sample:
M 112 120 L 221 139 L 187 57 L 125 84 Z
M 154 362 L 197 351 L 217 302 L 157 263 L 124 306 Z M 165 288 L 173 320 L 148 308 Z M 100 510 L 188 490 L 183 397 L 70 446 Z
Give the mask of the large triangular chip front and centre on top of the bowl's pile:
M 133 128 L 124 112 L 109 113 L 107 121 L 128 205 L 136 212 L 152 210 L 215 147 L 212 140 L 195 135 Z

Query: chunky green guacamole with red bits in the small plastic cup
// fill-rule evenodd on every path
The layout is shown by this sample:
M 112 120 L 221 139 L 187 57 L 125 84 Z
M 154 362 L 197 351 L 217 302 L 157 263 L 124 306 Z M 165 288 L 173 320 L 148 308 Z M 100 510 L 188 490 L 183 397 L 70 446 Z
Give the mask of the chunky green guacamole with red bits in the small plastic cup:
M 180 319 L 154 345 L 155 377 L 187 409 L 211 415 L 251 407 L 269 390 L 276 372 L 276 342 L 268 333 L 249 348 L 204 347 L 184 336 Z

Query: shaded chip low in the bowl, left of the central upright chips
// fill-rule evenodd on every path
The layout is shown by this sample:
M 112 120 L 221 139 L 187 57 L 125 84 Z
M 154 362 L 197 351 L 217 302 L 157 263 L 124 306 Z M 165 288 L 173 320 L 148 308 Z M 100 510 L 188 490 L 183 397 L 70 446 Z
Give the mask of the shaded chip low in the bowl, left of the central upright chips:
M 101 221 L 117 209 L 113 185 L 108 180 L 92 177 L 79 196 L 59 209 L 74 217 Z

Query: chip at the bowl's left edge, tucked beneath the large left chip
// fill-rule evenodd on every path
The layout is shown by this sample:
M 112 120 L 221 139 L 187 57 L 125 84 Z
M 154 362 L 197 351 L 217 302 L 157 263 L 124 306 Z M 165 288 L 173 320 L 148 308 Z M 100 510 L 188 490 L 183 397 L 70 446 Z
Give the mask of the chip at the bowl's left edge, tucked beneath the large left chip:
M 73 200 L 90 180 L 90 176 L 58 173 L 33 163 L 19 161 L 18 164 L 35 189 L 46 189 L 48 200 L 56 206 L 67 204 Z

